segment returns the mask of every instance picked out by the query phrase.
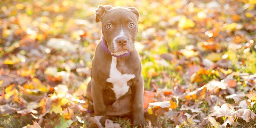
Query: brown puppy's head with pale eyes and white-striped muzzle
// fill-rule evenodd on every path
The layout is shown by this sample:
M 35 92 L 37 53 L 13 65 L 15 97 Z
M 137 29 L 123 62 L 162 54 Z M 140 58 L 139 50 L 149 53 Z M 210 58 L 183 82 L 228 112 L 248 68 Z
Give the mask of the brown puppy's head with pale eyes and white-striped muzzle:
M 102 22 L 104 41 L 112 54 L 122 55 L 135 50 L 139 19 L 139 11 L 135 7 L 99 5 L 95 15 L 95 21 Z

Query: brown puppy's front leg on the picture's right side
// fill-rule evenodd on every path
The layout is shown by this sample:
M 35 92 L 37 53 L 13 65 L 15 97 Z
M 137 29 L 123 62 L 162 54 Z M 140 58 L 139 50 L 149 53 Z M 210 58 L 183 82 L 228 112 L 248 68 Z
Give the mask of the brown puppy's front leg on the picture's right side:
M 134 126 L 143 126 L 147 124 L 144 117 L 143 111 L 143 90 L 144 90 L 144 82 L 143 77 L 139 78 L 139 80 L 132 86 L 132 117 L 133 117 L 133 125 Z

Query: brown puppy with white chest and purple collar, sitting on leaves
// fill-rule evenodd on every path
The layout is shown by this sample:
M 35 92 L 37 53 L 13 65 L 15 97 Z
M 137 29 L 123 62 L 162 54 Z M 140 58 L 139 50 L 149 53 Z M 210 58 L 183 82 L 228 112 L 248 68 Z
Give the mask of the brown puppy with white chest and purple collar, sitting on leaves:
M 89 102 L 93 102 L 95 115 L 109 111 L 124 114 L 132 111 L 133 125 L 146 124 L 143 113 L 143 77 L 141 61 L 134 42 L 138 32 L 139 11 L 135 7 L 99 5 L 96 22 L 102 22 L 103 37 L 92 60 L 91 81 L 87 87 Z M 127 105 L 116 103 L 128 100 Z M 112 110 L 108 110 L 111 108 Z M 130 109 L 130 110 L 129 110 Z

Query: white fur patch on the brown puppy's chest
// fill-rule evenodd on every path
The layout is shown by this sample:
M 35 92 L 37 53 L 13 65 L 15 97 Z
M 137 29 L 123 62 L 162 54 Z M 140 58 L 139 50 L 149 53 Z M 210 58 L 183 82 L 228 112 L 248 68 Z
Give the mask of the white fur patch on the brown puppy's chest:
M 113 84 L 112 90 L 115 93 L 116 99 L 118 99 L 122 95 L 125 95 L 128 92 L 130 87 L 127 86 L 127 82 L 133 78 L 135 78 L 134 74 L 121 74 L 117 70 L 117 57 L 112 56 L 110 75 L 107 79 L 107 82 Z

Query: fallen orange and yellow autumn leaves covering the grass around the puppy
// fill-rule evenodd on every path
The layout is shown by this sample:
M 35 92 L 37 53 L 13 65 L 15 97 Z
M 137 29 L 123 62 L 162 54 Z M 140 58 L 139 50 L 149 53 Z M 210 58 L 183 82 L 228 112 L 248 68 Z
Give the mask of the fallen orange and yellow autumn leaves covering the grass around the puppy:
M 86 100 L 98 4 L 139 9 L 149 128 L 256 126 L 253 0 L 11 1 L 0 2 L 0 127 L 101 126 Z

